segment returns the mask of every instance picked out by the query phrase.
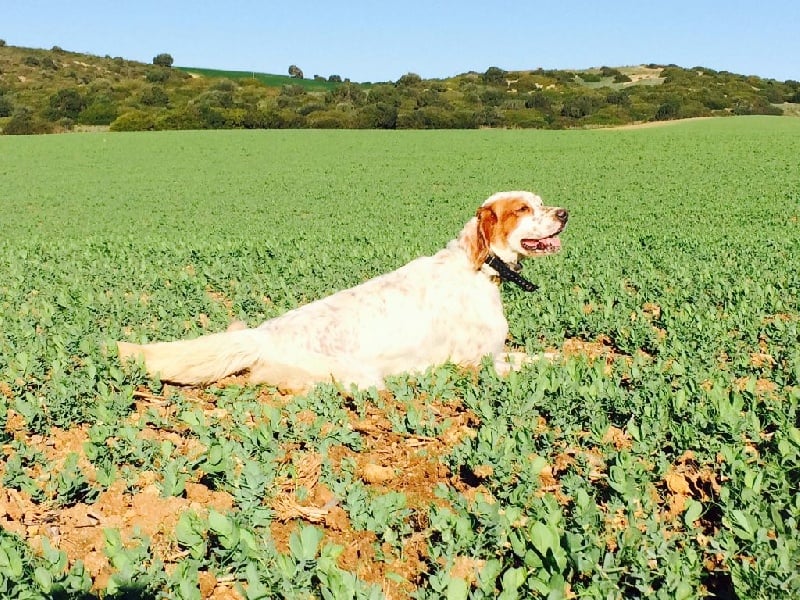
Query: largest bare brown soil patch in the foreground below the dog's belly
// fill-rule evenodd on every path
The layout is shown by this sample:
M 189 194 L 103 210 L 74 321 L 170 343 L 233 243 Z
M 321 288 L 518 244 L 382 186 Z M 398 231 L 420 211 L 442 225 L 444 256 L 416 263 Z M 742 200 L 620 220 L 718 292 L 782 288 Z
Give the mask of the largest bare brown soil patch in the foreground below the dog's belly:
M 388 396 L 383 399 L 390 401 Z M 375 534 L 354 530 L 333 494 L 320 483 L 322 457 L 295 452 L 290 460 L 297 475 L 291 482 L 279 484 L 279 493 L 272 501 L 277 518 L 271 530 L 278 550 L 288 551 L 289 537 L 301 523 L 313 523 L 324 529 L 323 543 L 344 547 L 338 559 L 340 568 L 356 573 L 368 583 L 379 584 L 390 600 L 407 598 L 426 568 L 427 540 L 423 530 L 427 524 L 427 510 L 431 504 L 443 503 L 435 494 L 437 484 L 453 483 L 453 475 L 439 458 L 464 436 L 474 435 L 473 427 L 477 425 L 477 418 L 458 402 L 433 401 L 427 406 L 436 415 L 437 422 L 445 419 L 450 422 L 441 438 L 393 432 L 385 412 L 370 405 L 363 417 L 350 411 L 350 423 L 362 436 L 363 450 L 356 453 L 344 446 L 335 446 L 327 456 L 334 469 L 345 459 L 352 461 L 358 477 L 377 493 L 394 491 L 405 496 L 415 533 L 401 548 L 383 544 L 380 546 L 382 557 L 378 559 Z M 295 495 L 300 487 L 309 492 L 304 502 L 298 501 Z M 388 577 L 390 574 L 399 575 L 400 581 L 397 577 Z

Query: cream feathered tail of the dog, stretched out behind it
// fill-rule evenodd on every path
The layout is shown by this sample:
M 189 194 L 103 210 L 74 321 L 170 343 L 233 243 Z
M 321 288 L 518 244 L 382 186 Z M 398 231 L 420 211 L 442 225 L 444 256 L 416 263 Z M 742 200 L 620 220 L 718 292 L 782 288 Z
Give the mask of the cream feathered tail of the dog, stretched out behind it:
M 150 376 L 196 385 L 252 368 L 264 349 L 264 337 L 258 329 L 228 330 L 176 342 L 117 342 L 117 350 L 122 361 L 141 357 Z

